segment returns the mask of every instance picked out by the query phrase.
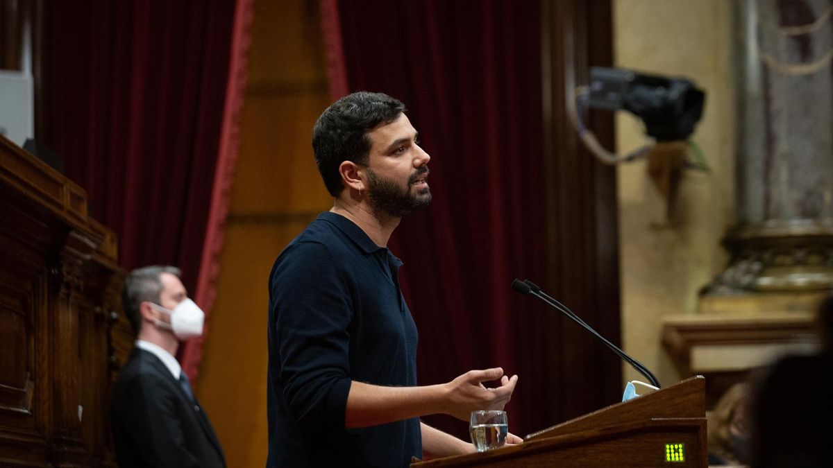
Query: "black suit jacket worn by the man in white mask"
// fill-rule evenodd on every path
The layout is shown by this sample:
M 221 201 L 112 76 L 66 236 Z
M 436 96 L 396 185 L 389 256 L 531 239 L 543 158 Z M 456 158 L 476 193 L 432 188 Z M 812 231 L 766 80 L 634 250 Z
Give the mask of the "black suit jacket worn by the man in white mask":
M 111 418 L 122 468 L 226 466 L 199 402 L 151 352 L 133 349 L 113 390 Z

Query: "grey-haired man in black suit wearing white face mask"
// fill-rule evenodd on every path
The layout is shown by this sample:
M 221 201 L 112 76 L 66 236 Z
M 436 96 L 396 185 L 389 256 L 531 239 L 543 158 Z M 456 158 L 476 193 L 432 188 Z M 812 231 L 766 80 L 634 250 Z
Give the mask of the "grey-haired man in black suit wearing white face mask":
M 188 299 L 181 272 L 146 266 L 127 276 L 124 312 L 137 332 L 112 396 L 119 466 L 226 466 L 222 447 L 174 357 L 202 335 L 205 314 Z

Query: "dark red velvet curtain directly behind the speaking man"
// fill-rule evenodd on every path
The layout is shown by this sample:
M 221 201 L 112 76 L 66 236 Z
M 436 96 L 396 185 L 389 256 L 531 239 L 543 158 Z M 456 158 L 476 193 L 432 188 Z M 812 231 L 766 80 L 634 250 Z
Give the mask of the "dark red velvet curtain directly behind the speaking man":
M 546 284 L 538 2 L 322 2 L 334 97 L 405 102 L 431 154 L 431 207 L 405 218 L 391 248 L 420 331 L 422 384 L 502 366 L 520 376 L 511 431 L 551 426 L 550 317 L 511 291 Z M 456 436 L 467 425 L 426 418 Z

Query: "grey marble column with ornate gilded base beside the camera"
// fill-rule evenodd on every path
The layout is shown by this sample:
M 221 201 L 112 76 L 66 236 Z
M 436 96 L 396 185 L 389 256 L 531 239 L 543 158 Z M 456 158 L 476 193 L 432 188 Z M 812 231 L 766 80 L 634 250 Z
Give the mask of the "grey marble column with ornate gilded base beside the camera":
M 740 0 L 732 260 L 709 295 L 833 288 L 833 0 Z

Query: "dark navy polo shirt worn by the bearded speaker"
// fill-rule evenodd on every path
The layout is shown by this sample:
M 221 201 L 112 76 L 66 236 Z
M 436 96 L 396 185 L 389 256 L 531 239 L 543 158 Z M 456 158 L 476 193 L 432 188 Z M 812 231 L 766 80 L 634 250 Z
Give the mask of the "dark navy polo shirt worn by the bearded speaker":
M 408 466 L 419 418 L 347 429 L 351 381 L 416 386 L 416 325 L 402 266 L 355 223 L 322 213 L 269 276 L 267 466 Z

